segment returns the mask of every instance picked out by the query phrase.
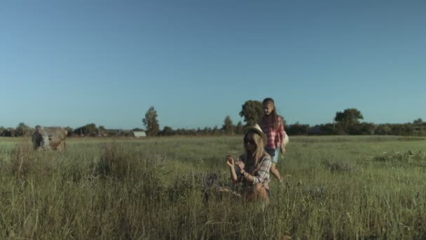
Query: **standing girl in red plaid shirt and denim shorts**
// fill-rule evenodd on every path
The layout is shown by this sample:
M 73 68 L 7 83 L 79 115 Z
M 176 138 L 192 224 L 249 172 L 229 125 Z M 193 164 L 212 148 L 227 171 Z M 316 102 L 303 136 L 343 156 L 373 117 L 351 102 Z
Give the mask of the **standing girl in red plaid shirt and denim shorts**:
M 268 144 L 265 147 L 266 152 L 272 157 L 272 166 L 270 172 L 275 175 L 277 180 L 281 180 L 280 171 L 277 169 L 278 155 L 285 152 L 285 136 L 284 124 L 282 117 L 278 116 L 275 111 L 275 103 L 272 98 L 263 100 L 263 112 L 265 113 L 259 120 L 263 133 L 268 136 Z M 288 138 L 288 137 L 287 137 Z

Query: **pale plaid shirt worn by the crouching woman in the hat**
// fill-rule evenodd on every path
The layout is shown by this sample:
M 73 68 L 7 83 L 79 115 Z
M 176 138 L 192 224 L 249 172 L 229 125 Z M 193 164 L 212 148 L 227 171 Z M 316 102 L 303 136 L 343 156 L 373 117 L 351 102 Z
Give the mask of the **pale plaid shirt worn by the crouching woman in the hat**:
M 247 173 L 250 173 L 250 175 L 253 175 L 253 183 L 252 185 L 255 185 L 256 183 L 261 183 L 263 186 L 265 186 L 266 189 L 269 189 L 268 183 L 270 182 L 270 166 L 272 165 L 272 161 L 270 159 L 269 154 L 263 154 L 261 156 L 262 159 L 260 159 L 260 162 L 258 164 L 258 168 L 256 166 L 247 164 L 247 160 L 245 157 L 245 154 L 242 154 L 238 160 L 242 161 L 245 164 L 245 171 Z M 247 181 L 245 181 L 245 178 L 240 175 L 240 171 L 238 173 L 238 178 L 240 181 L 242 181 L 245 185 L 247 185 Z

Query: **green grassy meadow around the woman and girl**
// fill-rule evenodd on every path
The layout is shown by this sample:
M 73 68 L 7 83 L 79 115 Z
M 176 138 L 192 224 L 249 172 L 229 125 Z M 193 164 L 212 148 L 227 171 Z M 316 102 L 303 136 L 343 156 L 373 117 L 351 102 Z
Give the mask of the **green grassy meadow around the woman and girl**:
M 426 138 L 290 136 L 269 206 L 214 192 L 241 152 L 242 136 L 0 138 L 0 239 L 426 239 Z

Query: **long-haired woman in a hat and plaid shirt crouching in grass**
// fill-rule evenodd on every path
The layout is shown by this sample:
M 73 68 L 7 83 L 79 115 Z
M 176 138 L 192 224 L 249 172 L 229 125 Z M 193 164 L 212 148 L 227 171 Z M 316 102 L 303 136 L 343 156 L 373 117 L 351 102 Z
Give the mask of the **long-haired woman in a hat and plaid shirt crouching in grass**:
M 261 201 L 269 202 L 269 171 L 271 166 L 270 156 L 264 151 L 266 135 L 259 125 L 247 128 L 244 137 L 245 154 L 238 161 L 232 156 L 226 157 L 226 164 L 231 173 L 233 182 L 242 182 L 244 189 L 242 195 L 246 201 L 259 197 Z

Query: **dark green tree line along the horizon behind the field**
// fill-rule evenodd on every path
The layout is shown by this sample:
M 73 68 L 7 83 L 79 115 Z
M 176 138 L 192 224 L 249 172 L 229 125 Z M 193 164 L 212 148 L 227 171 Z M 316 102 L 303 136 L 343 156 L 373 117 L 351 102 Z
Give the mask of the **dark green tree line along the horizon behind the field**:
M 263 115 L 263 106 L 260 101 L 247 100 L 241 107 L 240 116 L 244 118 L 245 124 L 241 121 L 234 124 L 230 116 L 226 116 L 224 124 L 221 126 L 186 129 L 173 129 L 164 126 L 160 129 L 158 124 L 158 114 L 154 107 L 149 107 L 146 111 L 142 124 L 145 129 L 133 128 L 132 130 L 107 129 L 96 124 L 86 124 L 78 128 L 66 127 L 69 136 L 133 136 L 132 131 L 145 131 L 149 136 L 170 136 L 170 135 L 235 135 L 244 133 L 245 126 L 256 124 Z M 412 123 L 406 124 L 373 124 L 362 122 L 364 116 L 356 108 L 344 109 L 343 112 L 336 112 L 334 122 L 329 124 L 319 124 L 310 126 L 309 124 L 285 124 L 284 129 L 288 135 L 426 135 L 426 123 L 422 119 L 415 119 Z M 16 128 L 5 128 L 0 126 L 0 136 L 30 136 L 34 133 L 34 128 L 24 123 L 18 124 Z

